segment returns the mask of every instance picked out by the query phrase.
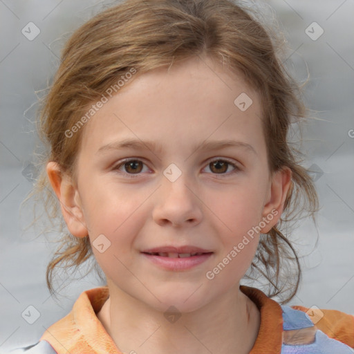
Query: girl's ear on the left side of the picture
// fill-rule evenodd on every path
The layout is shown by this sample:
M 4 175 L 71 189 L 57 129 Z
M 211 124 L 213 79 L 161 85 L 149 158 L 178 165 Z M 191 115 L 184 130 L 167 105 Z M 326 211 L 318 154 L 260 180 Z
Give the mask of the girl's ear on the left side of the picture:
M 82 212 L 82 205 L 77 187 L 73 185 L 71 176 L 63 173 L 57 162 L 47 164 L 47 174 L 57 198 L 64 220 L 71 234 L 76 237 L 85 237 L 88 230 Z

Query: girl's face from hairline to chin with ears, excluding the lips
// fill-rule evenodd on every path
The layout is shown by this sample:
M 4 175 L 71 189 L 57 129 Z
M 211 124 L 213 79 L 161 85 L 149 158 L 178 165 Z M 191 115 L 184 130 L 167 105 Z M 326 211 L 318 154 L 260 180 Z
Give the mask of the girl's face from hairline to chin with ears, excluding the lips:
M 234 295 L 290 181 L 268 171 L 259 96 L 210 59 L 121 90 L 81 128 L 69 230 L 88 233 L 112 294 L 181 312 Z M 212 254 L 173 270 L 142 253 L 185 245 Z

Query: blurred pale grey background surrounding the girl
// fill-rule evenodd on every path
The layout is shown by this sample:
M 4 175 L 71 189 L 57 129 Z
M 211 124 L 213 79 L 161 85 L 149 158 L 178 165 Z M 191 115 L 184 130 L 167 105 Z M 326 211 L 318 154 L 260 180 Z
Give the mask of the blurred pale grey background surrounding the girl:
M 37 174 L 36 92 L 48 86 L 71 32 L 106 4 L 0 0 L 0 353 L 37 342 L 82 291 L 101 285 L 91 274 L 57 289 L 58 299 L 50 297 L 45 272 L 56 245 L 38 230 L 24 229 L 31 210 L 20 215 L 19 207 Z M 309 75 L 306 104 L 318 118 L 306 124 L 303 151 L 322 209 L 317 227 L 301 221 L 292 236 L 304 275 L 290 305 L 354 315 L 354 2 L 273 0 L 255 6 L 277 17 L 288 41 L 284 62 L 297 81 Z

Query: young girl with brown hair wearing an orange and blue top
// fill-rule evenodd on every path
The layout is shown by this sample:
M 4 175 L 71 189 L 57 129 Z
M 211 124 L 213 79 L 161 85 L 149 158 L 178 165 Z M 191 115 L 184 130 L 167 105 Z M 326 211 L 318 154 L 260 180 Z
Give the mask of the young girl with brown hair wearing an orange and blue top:
M 271 299 L 299 286 L 283 223 L 317 209 L 286 139 L 298 93 L 231 1 L 126 0 L 79 28 L 41 112 L 37 187 L 68 228 L 50 291 L 92 254 L 106 286 L 24 351 L 353 353 L 353 316 Z M 240 285 L 254 271 L 268 296 Z

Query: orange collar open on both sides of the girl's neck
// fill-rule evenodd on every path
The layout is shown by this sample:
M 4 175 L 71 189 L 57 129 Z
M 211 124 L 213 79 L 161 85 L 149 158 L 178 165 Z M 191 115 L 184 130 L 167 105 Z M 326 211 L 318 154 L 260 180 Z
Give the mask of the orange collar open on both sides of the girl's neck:
M 261 313 L 259 333 L 250 354 L 263 354 L 270 349 L 272 353 L 280 354 L 283 333 L 281 306 L 256 288 L 240 286 L 240 290 L 256 304 Z M 108 297 L 107 286 L 82 292 L 71 313 L 50 326 L 40 340 L 49 342 L 57 354 L 122 354 L 96 316 Z

